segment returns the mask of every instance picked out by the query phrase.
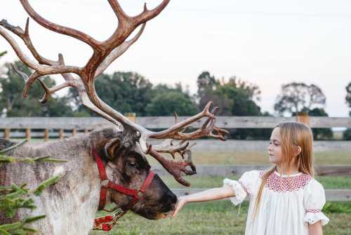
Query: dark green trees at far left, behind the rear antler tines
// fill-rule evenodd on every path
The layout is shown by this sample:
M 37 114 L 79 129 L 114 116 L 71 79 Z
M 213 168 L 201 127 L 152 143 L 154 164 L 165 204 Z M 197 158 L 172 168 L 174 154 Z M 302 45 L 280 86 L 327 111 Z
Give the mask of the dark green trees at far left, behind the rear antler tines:
M 25 81 L 15 74 L 11 64 L 4 65 L 5 74 L 0 75 L 0 111 L 5 116 L 72 116 L 72 108 L 67 98 L 53 96 L 48 102 L 41 104 L 38 100 L 44 95 L 44 90 L 39 82 L 33 84 L 29 90 L 28 98 L 22 97 Z M 31 74 L 28 67 L 16 61 L 15 67 L 22 72 Z M 50 76 L 43 78 L 48 86 L 55 86 L 55 81 Z

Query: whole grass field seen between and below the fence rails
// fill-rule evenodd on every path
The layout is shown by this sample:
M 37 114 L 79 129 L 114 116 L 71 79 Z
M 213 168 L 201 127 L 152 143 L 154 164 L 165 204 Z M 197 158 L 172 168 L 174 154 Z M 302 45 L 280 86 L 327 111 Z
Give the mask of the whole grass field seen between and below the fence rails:
M 314 154 L 318 165 L 351 165 L 350 152 L 317 152 Z M 150 163 L 157 164 L 154 159 Z M 268 164 L 266 152 L 237 152 L 237 153 L 194 153 L 196 165 L 258 165 Z M 239 175 L 227 175 L 236 180 Z M 221 187 L 223 177 L 197 176 L 185 177 L 193 188 Z M 162 176 L 170 188 L 182 188 L 172 176 Z M 326 189 L 351 189 L 351 177 L 317 177 Z M 127 213 L 121 218 L 117 227 L 109 235 L 134 234 L 244 234 L 248 203 L 242 203 L 240 213 L 238 208 L 232 208 L 230 201 L 213 201 L 208 203 L 192 203 L 187 205 L 174 219 L 146 220 L 133 213 Z M 324 213 L 330 222 L 324 227 L 324 235 L 351 234 L 351 202 L 327 202 Z M 103 234 L 92 232 L 91 234 Z

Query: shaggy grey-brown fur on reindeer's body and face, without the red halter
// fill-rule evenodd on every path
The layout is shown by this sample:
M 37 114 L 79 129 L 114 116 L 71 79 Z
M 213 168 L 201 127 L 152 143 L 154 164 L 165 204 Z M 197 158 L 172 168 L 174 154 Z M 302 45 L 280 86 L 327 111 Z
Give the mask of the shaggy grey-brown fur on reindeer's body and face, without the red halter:
M 118 141 L 109 145 L 109 157 L 105 154 L 105 145 L 111 143 L 112 139 Z M 5 180 L 2 181 L 5 185 L 10 182 L 18 185 L 27 182 L 29 188 L 34 188 L 53 175 L 61 176 L 60 180 L 48 187 L 40 197 L 35 197 L 37 210 L 19 210 L 13 221 L 28 215 L 45 214 L 44 220 L 39 220 L 32 226 L 37 228 L 40 234 L 88 234 L 93 227 L 93 218 L 98 210 L 100 198 L 100 178 L 91 155 L 91 147 L 95 147 L 105 161 L 107 177 L 124 187 L 138 189 L 150 171 L 145 156 L 136 151 L 133 145 L 125 145 L 125 141 L 119 129 L 106 128 L 67 140 L 39 145 L 25 144 L 8 152 L 8 156 L 51 156 L 67 160 L 67 163 L 6 164 L 5 173 L 1 177 Z M 11 145 L 13 143 L 0 141 L 0 146 Z M 130 196 L 119 192 L 107 193 L 107 203 L 114 202 L 117 206 L 125 206 L 130 199 Z M 132 210 L 143 217 L 158 219 L 164 217 L 164 213 L 173 210 L 176 200 L 176 196 L 164 182 L 155 176 L 149 190 Z M 0 215 L 0 224 L 6 222 L 8 220 L 4 220 L 4 216 Z

